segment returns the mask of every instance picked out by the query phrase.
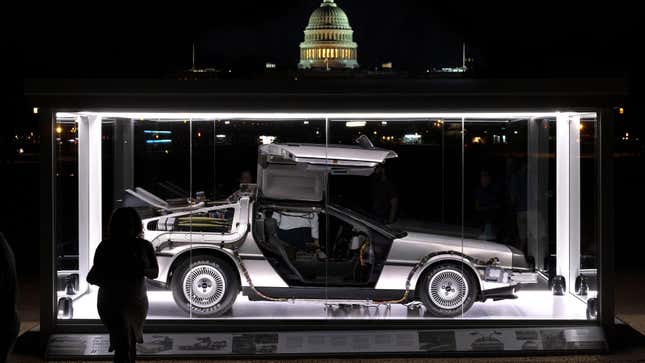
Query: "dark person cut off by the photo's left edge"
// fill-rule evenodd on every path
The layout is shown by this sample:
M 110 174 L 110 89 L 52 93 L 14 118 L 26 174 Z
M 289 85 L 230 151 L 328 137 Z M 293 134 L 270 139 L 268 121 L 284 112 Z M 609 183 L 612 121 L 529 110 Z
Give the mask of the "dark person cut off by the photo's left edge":
M 16 260 L 0 233 L 0 362 L 6 362 L 20 331 L 16 311 Z

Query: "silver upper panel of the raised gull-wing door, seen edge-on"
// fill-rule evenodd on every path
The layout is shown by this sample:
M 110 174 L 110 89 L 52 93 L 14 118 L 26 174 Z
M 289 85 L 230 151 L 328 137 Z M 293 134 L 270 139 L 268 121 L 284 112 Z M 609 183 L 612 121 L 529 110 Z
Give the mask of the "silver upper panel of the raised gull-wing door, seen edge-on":
M 295 162 L 356 164 L 372 167 L 384 163 L 387 159 L 398 157 L 392 150 L 370 149 L 355 145 L 268 144 L 261 145 L 260 152 Z

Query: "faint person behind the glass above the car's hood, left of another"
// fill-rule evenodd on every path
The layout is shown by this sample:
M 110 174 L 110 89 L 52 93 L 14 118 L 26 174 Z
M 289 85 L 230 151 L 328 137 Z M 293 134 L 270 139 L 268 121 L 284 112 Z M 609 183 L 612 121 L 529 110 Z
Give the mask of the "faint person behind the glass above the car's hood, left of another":
M 479 174 L 479 185 L 475 188 L 475 212 L 482 229 L 479 239 L 487 241 L 497 239 L 497 222 L 501 207 L 498 185 L 493 183 L 487 170 L 482 170 Z

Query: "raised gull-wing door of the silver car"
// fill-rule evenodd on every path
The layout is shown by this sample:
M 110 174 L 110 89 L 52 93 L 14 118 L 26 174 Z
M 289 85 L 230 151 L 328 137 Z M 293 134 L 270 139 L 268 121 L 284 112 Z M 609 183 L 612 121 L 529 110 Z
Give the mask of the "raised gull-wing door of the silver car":
M 369 176 L 391 150 L 365 146 L 318 144 L 261 145 L 258 155 L 258 190 L 261 198 L 320 202 L 327 175 Z

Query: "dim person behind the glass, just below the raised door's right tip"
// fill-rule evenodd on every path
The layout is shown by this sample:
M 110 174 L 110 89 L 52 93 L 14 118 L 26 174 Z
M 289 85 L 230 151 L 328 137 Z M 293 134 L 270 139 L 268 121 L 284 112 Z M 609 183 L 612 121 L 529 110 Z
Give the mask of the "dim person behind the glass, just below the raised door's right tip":
M 372 211 L 376 220 L 384 224 L 394 223 L 399 209 L 399 196 L 394 184 L 382 166 L 374 170 L 372 180 Z

